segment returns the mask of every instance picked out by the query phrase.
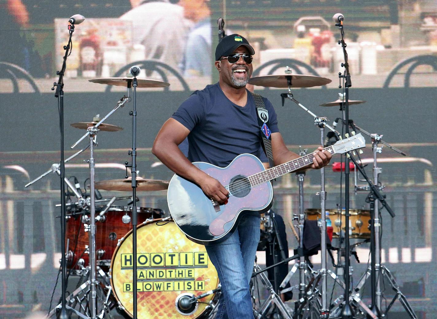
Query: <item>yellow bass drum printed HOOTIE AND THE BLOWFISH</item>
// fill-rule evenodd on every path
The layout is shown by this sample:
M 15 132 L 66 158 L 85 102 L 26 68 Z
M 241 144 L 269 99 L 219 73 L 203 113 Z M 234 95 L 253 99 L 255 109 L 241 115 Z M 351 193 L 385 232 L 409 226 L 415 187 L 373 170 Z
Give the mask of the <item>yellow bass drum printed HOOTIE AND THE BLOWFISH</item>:
M 118 243 L 109 270 L 114 296 L 131 317 L 132 267 L 131 230 Z M 217 302 L 211 294 L 191 309 L 177 306 L 181 296 L 217 288 L 218 276 L 205 246 L 187 239 L 174 222 L 154 219 L 137 226 L 137 278 L 138 318 L 206 318 L 211 312 L 207 304 Z

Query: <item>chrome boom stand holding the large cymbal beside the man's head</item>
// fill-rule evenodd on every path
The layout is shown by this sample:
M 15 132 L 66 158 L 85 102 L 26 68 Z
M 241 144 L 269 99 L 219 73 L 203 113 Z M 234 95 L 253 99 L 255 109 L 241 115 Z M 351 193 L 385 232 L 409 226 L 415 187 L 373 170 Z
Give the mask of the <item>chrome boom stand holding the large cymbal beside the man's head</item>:
M 318 117 L 316 114 L 312 113 L 308 108 L 299 103 L 291 93 L 291 76 L 285 76 L 288 83 L 288 93 L 281 94 L 282 105 L 284 105 L 284 99 L 287 98 L 293 102 L 295 102 L 298 106 L 302 107 L 307 113 L 309 113 L 314 118 L 314 124 L 320 128 L 320 142 L 323 145 L 324 140 L 324 128 L 327 127 L 331 131 L 338 132 L 335 128 L 331 127 L 326 123 L 326 118 Z M 329 309 L 328 309 L 328 297 L 327 297 L 327 282 L 326 282 L 326 215 L 325 215 L 325 202 L 326 202 L 326 191 L 325 191 L 325 169 L 322 167 L 320 169 L 321 175 L 321 190 L 320 190 L 320 207 L 321 207 L 321 218 L 319 222 L 320 231 L 322 233 L 321 243 L 320 243 L 320 252 L 321 252 L 321 268 L 320 274 L 322 275 L 321 280 L 321 297 L 322 297 L 322 307 L 320 309 L 320 317 L 328 318 L 329 317 Z

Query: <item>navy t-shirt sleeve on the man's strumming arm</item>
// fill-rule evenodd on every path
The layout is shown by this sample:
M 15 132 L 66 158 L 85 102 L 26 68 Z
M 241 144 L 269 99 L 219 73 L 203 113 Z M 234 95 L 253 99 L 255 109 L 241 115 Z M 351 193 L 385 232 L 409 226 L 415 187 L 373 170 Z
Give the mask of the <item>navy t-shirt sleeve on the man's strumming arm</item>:
M 199 94 L 194 92 L 171 116 L 186 128 L 193 128 L 205 117 L 205 103 Z

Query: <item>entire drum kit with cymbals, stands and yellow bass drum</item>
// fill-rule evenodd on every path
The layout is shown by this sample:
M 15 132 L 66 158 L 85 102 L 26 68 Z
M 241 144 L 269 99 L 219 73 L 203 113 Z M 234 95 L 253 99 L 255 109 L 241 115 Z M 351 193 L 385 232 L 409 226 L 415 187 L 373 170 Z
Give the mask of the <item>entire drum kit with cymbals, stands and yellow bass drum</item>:
M 135 160 L 132 160 L 132 177 L 125 179 L 102 180 L 95 182 L 94 147 L 97 145 L 97 133 L 118 132 L 121 127 L 103 123 L 118 108 L 131 100 L 129 96 L 132 84 L 134 85 L 134 104 L 136 87 L 167 87 L 169 84 L 147 79 L 136 79 L 132 77 L 122 78 L 101 78 L 90 80 L 94 83 L 127 87 L 128 94 L 122 97 L 104 118 L 98 116 L 90 122 L 78 122 L 71 124 L 72 127 L 86 130 L 86 133 L 72 146 L 75 147 L 83 139 L 88 137 L 89 144 L 70 156 L 65 162 L 72 160 L 88 148 L 90 158 L 88 161 L 90 169 L 90 192 L 84 194 L 80 185 L 73 185 L 67 178 L 65 184 L 77 197 L 76 202 L 66 204 L 66 267 L 70 275 L 77 276 L 76 289 L 66 297 L 66 305 L 70 316 L 84 319 L 112 318 L 112 309 L 116 309 L 125 318 L 207 318 L 216 308 L 220 284 L 218 276 L 212 263 L 208 259 L 205 247 L 187 239 L 179 231 L 170 217 L 164 218 L 164 212 L 158 208 L 136 207 L 136 191 L 162 191 L 168 187 L 164 180 L 148 180 L 136 177 Z M 324 129 L 329 128 L 336 132 L 335 127 L 327 124 L 327 119 L 318 117 L 308 108 L 299 103 L 291 92 L 294 87 L 322 86 L 331 80 L 319 76 L 307 76 L 293 74 L 290 69 L 285 70 L 284 75 L 259 76 L 250 79 L 249 83 L 262 87 L 288 87 L 288 93 L 281 94 L 284 104 L 285 98 L 295 102 L 299 107 L 313 116 L 314 123 L 320 129 L 321 142 L 324 143 Z M 365 101 L 349 101 L 349 104 L 360 104 Z M 344 99 L 321 104 L 325 107 L 342 106 Z M 134 112 L 131 112 L 135 114 Z M 135 132 L 135 121 L 132 131 Z M 361 128 L 355 128 L 364 134 L 372 137 L 374 145 L 382 142 L 382 135 L 371 135 Z M 132 133 L 134 134 L 134 133 Z M 135 137 L 133 138 L 135 141 Z M 385 143 L 386 144 L 386 143 Z M 135 144 L 132 147 L 135 150 Z M 375 147 L 375 165 L 376 165 Z M 132 155 L 132 152 L 130 153 Z M 375 166 L 377 167 L 377 166 Z M 134 170 L 135 168 L 135 170 Z M 331 210 L 325 208 L 325 185 L 324 170 L 321 169 L 322 183 L 320 191 L 321 208 L 304 209 L 303 206 L 303 183 L 305 173 L 297 173 L 299 185 L 299 214 L 298 233 L 295 232 L 299 241 L 299 261 L 291 268 L 277 290 L 271 286 L 260 268 L 255 265 L 255 271 L 260 272 L 264 286 L 270 291 L 262 309 L 255 309 L 256 318 L 266 318 L 268 311 L 272 308 L 279 309 L 283 318 L 312 318 L 314 313 L 323 317 L 329 313 L 332 305 L 327 305 L 326 298 L 326 277 L 331 275 L 340 285 L 337 273 L 327 270 L 326 267 L 326 232 L 327 219 L 332 222 L 332 233 L 334 238 L 344 236 L 345 212 L 342 210 Z M 31 181 L 35 183 L 49 173 L 58 173 L 59 164 L 53 164 L 50 170 L 40 177 Z M 379 172 L 379 171 L 378 171 Z M 377 178 L 378 173 L 375 173 Z M 133 187 L 134 181 L 135 187 Z M 375 185 L 378 185 L 375 180 Z M 96 199 L 97 190 L 105 191 L 132 191 L 132 197 L 112 197 L 111 199 Z M 132 199 L 128 206 L 114 205 L 116 201 Z M 357 239 L 371 239 L 373 233 L 370 231 L 372 225 L 372 213 L 377 210 L 378 205 L 373 205 L 373 212 L 369 210 L 349 210 L 349 236 Z M 306 216 L 306 217 L 305 217 Z M 307 264 L 302 254 L 304 248 L 304 223 L 318 221 L 321 231 L 321 252 L 322 267 L 314 271 Z M 163 226 L 165 225 L 165 226 Z M 163 226 L 163 227 L 161 227 Z M 274 222 L 271 216 L 265 215 L 262 218 L 261 232 L 266 235 L 274 229 Z M 295 230 L 295 229 L 293 229 Z M 263 237 L 263 236 L 262 236 Z M 266 239 L 267 238 L 267 239 Z M 264 236 L 266 241 L 271 237 Z M 136 244 L 135 244 L 136 243 Z M 137 247 L 139 252 L 133 250 Z M 288 247 L 285 247 L 287 249 Z M 377 250 L 379 248 L 377 247 Z M 136 260 L 136 263 L 133 262 Z M 282 261 L 283 262 L 283 261 Z M 281 263 L 281 262 L 280 262 Z M 279 263 L 278 263 L 279 264 Z M 378 270 L 389 276 L 386 268 Z M 279 297 L 280 293 L 287 292 L 296 287 L 285 288 L 292 275 L 297 271 L 299 274 L 299 299 L 296 303 L 293 314 L 284 306 Z M 369 270 L 370 272 L 370 270 Z M 137 276 L 133 276 L 133 274 Z M 367 273 L 366 273 L 367 274 Z M 368 276 L 367 276 L 368 277 Z M 367 277 L 364 278 L 367 279 Z M 360 281 L 361 286 L 364 282 Z M 135 289 L 136 287 L 136 289 Z M 135 298 L 135 293 L 138 298 Z M 134 296 L 134 298 L 132 298 Z M 404 297 L 405 298 L 405 297 Z M 134 300 L 137 300 L 135 303 Z M 202 299 L 201 301 L 199 301 Z M 367 312 L 371 318 L 377 318 L 375 314 L 361 301 L 359 295 L 352 295 L 352 302 L 361 314 Z M 274 305 L 274 307 L 272 307 Z M 341 301 L 337 302 L 341 305 Z M 56 316 L 62 304 L 52 309 L 47 318 Z M 329 308 L 328 308 L 329 306 Z M 135 308 L 138 307 L 138 308 Z M 333 308 L 335 312 L 340 306 Z M 134 309 L 135 308 L 135 309 Z M 411 310 L 412 312 L 412 310 Z M 327 318 L 327 316 L 325 317 Z M 412 316 L 415 318 L 415 316 Z

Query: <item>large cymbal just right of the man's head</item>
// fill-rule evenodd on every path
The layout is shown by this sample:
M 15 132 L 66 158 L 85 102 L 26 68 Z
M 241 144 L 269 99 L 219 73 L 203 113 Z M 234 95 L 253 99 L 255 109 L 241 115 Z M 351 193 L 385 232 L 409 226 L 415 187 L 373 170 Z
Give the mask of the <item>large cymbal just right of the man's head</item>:
M 287 79 L 291 78 L 291 87 L 317 87 L 325 85 L 332 81 L 320 76 L 303 75 L 303 74 L 283 74 L 283 75 L 266 75 L 256 76 L 249 80 L 249 84 L 261 87 L 288 87 Z

